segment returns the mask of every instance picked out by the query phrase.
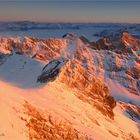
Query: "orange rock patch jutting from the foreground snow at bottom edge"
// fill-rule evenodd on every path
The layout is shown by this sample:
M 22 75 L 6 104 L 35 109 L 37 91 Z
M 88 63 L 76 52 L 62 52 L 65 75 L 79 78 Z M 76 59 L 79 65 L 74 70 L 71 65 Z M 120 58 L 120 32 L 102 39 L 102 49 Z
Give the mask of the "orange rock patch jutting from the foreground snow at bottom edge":
M 26 117 L 22 117 L 22 120 L 29 129 L 30 140 L 93 140 L 77 131 L 66 120 L 56 121 L 54 116 L 49 113 L 44 115 L 28 102 L 24 104 L 24 114 Z

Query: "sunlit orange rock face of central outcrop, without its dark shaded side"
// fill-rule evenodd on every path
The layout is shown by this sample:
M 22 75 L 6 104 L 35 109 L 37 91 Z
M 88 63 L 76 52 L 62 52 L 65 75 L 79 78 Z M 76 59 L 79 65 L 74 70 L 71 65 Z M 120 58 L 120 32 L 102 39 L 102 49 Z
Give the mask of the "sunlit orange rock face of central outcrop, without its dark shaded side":
M 114 118 L 116 106 L 108 87 L 77 61 L 68 61 L 59 75 L 62 83 L 76 88 L 80 99 L 97 107 L 104 115 Z

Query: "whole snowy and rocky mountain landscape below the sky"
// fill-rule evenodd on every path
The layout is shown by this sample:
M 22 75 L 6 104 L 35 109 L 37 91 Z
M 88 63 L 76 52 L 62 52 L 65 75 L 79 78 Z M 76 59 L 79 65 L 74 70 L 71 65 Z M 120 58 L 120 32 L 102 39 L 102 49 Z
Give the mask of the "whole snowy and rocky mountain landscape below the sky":
M 140 140 L 139 25 L 0 30 L 0 140 Z

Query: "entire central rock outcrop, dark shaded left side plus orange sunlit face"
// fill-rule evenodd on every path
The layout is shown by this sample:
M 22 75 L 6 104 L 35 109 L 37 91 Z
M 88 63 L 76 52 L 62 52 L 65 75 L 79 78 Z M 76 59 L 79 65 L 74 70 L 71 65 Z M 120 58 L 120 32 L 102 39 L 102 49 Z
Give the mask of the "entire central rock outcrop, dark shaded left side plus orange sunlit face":
M 70 88 L 76 88 L 76 96 L 81 100 L 92 104 L 104 115 L 114 118 L 113 108 L 116 102 L 108 87 L 76 59 L 68 62 L 64 58 L 51 61 L 43 68 L 37 81 L 48 82 L 55 79 Z

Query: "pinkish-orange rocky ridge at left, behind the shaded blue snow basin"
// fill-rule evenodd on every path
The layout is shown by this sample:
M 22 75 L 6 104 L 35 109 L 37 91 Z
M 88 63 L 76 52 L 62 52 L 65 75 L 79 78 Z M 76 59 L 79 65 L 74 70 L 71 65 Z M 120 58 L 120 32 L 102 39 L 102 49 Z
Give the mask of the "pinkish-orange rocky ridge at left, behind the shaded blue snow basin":
M 11 54 L 14 50 L 20 54 L 26 54 L 30 57 L 36 58 L 37 60 L 49 62 L 50 60 L 61 56 L 67 43 L 67 39 L 55 38 L 1 38 L 0 52 Z

